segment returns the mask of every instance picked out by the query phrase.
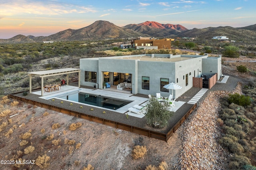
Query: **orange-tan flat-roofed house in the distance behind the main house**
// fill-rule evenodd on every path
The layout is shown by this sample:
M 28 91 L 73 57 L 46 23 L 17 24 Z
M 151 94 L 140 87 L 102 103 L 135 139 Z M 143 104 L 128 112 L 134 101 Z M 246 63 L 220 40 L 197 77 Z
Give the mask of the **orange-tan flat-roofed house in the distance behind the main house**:
M 139 37 L 132 40 L 132 47 L 136 49 L 171 49 L 171 39 Z

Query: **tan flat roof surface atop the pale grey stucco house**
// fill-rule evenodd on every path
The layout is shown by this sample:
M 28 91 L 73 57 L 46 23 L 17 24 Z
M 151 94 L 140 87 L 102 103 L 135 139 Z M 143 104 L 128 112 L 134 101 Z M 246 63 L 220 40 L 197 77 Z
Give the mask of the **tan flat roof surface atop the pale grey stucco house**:
M 199 57 L 199 56 L 198 56 Z M 184 61 L 189 59 L 194 59 L 194 57 L 151 57 L 151 56 L 134 56 L 134 57 L 118 57 L 114 59 L 125 59 L 125 60 L 140 60 L 140 61 L 164 61 L 164 62 L 178 62 L 178 61 Z

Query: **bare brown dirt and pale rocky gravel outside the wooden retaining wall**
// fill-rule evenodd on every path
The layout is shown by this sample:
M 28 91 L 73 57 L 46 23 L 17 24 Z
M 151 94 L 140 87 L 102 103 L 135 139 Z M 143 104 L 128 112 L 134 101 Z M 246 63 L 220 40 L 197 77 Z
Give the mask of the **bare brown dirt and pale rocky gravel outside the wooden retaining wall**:
M 229 67 L 231 66 L 226 66 L 228 74 L 238 74 Z M 241 92 L 239 84 L 234 92 Z M 45 169 L 49 170 L 80 170 L 88 164 L 96 170 L 143 170 L 150 164 L 158 166 L 162 161 L 166 161 L 170 170 L 226 169 L 228 153 L 216 142 L 220 135 L 216 118 L 220 109 L 218 97 L 227 94 L 228 92 L 223 91 L 210 92 L 167 143 L 22 102 L 17 106 L 10 106 L 11 100 L 1 108 L 1 111 L 10 109 L 11 113 L 0 117 L 0 124 L 8 122 L 0 132 L 0 160 L 6 160 L 6 163 L 7 160 L 18 158 L 32 161 L 46 154 L 50 156 L 50 160 Z M 44 116 L 45 112 L 49 114 Z M 17 113 L 19 114 L 9 117 Z M 82 126 L 71 131 L 70 124 L 77 122 L 82 123 Z M 59 123 L 60 127 L 52 129 L 54 123 Z M 9 129 L 13 133 L 6 137 Z M 22 139 L 19 135 L 30 129 L 31 137 L 24 139 L 28 144 L 20 146 Z M 41 129 L 45 129 L 45 132 L 42 133 Z M 46 137 L 51 134 L 54 134 L 53 139 L 47 140 Z M 52 141 L 56 139 L 60 139 L 60 142 L 53 145 Z M 75 143 L 65 144 L 65 139 L 74 140 Z M 76 149 L 78 143 L 81 146 Z M 30 145 L 35 148 L 34 151 L 25 154 L 24 149 Z M 147 148 L 147 154 L 143 158 L 132 158 L 135 145 Z M 23 153 L 18 155 L 18 150 Z M 40 169 L 36 164 L 19 166 L 21 167 L 16 168 L 14 165 L 0 164 L 0 169 Z

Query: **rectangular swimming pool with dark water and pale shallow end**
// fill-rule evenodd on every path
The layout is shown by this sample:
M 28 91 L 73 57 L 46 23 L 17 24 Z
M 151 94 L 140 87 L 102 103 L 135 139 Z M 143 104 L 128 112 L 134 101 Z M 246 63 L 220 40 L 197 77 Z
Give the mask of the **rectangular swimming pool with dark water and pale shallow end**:
M 113 110 L 119 109 L 120 107 L 123 107 L 126 104 L 133 102 L 128 100 L 111 98 L 107 96 L 79 92 L 79 91 L 56 96 L 56 98 L 104 107 L 104 108 L 113 109 Z

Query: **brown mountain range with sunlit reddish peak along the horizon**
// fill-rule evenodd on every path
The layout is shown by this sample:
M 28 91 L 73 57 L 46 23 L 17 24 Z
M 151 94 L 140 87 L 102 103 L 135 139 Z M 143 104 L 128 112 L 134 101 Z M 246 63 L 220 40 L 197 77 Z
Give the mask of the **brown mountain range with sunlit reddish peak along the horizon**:
M 121 39 L 128 37 L 198 37 L 211 39 L 214 36 L 227 36 L 236 41 L 256 41 L 256 24 L 247 27 L 207 27 L 187 29 L 182 25 L 162 24 L 146 21 L 118 27 L 109 21 L 95 21 L 80 29 L 66 29 L 49 36 L 16 35 L 10 39 L 0 39 L 0 43 L 42 42 L 42 41 L 85 41 L 93 39 Z

